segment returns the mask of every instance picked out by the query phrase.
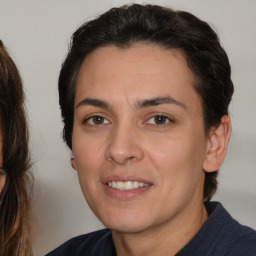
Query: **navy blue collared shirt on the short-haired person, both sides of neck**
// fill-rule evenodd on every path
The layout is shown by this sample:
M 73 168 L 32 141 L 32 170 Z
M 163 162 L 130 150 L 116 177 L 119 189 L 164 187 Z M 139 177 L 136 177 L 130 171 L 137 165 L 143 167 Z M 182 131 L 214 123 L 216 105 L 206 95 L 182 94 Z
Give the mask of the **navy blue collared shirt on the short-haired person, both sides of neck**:
M 176 256 L 256 256 L 256 231 L 240 225 L 218 202 L 207 202 L 209 218 Z M 46 256 L 115 256 L 111 230 L 75 237 Z

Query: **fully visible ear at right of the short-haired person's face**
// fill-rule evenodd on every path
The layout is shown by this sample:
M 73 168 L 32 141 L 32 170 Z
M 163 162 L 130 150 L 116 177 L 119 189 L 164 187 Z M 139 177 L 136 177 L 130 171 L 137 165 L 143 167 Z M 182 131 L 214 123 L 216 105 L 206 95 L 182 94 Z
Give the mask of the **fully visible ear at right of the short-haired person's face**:
M 225 115 L 221 118 L 221 122 L 218 126 L 210 129 L 206 158 L 203 164 L 204 171 L 215 172 L 220 168 L 227 152 L 230 134 L 230 118 Z

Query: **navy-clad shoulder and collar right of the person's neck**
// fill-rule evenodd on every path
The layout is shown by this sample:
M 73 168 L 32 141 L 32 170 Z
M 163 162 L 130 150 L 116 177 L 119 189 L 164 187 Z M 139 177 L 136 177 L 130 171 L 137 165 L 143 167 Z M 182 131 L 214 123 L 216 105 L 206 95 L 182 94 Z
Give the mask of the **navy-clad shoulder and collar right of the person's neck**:
M 256 256 L 256 231 L 234 220 L 218 202 L 205 202 L 209 218 L 179 256 Z

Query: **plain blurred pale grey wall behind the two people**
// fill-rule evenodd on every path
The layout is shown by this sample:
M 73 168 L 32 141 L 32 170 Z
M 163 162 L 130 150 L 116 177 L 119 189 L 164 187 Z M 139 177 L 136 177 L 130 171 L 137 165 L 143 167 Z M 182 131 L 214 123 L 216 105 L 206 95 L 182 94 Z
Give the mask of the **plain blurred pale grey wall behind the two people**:
M 167 0 L 154 3 L 192 12 L 219 34 L 235 94 L 228 154 L 214 199 L 256 229 L 256 1 Z M 62 141 L 57 81 L 72 33 L 122 0 L 0 0 L 0 39 L 23 78 L 35 191 L 33 246 L 44 255 L 67 239 L 102 227 L 87 207 Z

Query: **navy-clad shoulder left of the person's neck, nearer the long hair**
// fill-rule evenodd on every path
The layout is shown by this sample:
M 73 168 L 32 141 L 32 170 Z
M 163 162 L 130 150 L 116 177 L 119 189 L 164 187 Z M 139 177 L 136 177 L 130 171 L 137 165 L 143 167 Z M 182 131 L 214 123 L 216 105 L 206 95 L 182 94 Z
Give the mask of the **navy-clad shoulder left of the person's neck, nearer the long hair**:
M 112 234 L 109 229 L 94 231 L 85 235 L 74 237 L 46 256 L 80 256 L 80 255 L 105 255 L 101 254 L 103 248 L 112 250 Z M 90 253 L 90 254 L 89 254 Z M 106 254 L 108 255 L 108 254 Z

